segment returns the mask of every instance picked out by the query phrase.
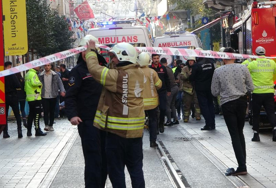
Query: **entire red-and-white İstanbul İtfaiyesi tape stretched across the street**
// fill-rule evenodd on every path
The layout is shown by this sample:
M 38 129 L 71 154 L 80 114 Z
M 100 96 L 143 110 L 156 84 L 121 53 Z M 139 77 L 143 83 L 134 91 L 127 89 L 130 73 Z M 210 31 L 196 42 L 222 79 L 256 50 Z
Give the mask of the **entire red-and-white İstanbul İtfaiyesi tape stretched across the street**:
M 105 50 L 110 50 L 110 48 L 106 45 L 96 44 L 96 46 Z M 135 48 L 139 52 L 147 52 L 149 54 L 178 55 L 178 56 L 186 56 L 186 57 L 190 56 L 190 57 L 205 57 L 205 58 L 216 58 L 216 59 L 276 58 L 276 57 L 266 57 L 266 56 L 264 57 L 264 56 L 247 55 L 247 54 L 215 52 L 211 50 L 192 50 L 192 49 L 184 49 L 184 48 L 166 48 L 166 47 L 135 47 Z M 39 58 L 37 60 L 33 60 L 28 63 L 25 63 L 23 65 L 19 65 L 7 70 L 0 71 L 0 77 L 8 76 L 14 73 L 22 72 L 38 66 L 46 65 L 48 63 L 59 61 L 67 57 L 70 57 L 72 55 L 76 55 L 85 50 L 86 50 L 86 46 L 81 46 L 70 50 L 58 52 L 52 55 L 48 55 L 48 56 Z

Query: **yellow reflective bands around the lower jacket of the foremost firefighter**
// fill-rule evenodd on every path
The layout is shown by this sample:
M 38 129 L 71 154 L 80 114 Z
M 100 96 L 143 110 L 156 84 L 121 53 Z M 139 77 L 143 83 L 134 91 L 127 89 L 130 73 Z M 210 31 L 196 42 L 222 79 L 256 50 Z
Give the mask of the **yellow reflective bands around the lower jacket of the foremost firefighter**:
M 145 117 L 119 118 L 108 116 L 106 123 L 106 115 L 97 110 L 94 122 L 98 123 L 102 128 L 104 128 L 105 124 L 107 124 L 107 128 L 120 130 L 136 130 L 144 128 Z

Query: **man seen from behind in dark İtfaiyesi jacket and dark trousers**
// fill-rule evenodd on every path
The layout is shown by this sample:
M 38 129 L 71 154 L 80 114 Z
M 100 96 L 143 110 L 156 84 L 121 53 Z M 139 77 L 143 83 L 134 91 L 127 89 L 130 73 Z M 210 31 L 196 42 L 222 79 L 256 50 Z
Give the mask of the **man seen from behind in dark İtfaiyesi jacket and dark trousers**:
M 198 57 L 196 62 L 189 79 L 194 81 L 199 107 L 205 119 L 205 126 L 201 130 L 213 130 L 215 129 L 215 113 L 211 84 L 216 61 L 213 58 Z

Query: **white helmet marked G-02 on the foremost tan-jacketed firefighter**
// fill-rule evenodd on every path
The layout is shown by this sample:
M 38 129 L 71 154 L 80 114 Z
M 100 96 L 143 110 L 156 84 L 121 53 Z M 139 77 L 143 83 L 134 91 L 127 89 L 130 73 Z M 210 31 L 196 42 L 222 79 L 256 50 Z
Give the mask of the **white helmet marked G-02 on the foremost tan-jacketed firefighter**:
M 119 61 L 137 63 L 138 53 L 135 50 L 135 47 L 129 43 L 121 42 L 115 44 L 112 50 L 109 50 L 109 52 L 112 52 L 114 55 L 116 55 Z

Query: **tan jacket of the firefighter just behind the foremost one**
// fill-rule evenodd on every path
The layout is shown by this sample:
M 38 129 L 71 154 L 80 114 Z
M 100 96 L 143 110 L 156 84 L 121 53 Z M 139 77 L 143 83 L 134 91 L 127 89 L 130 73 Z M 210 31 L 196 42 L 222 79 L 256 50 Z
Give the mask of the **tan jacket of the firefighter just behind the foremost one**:
M 149 68 L 147 65 L 141 66 L 144 72 L 144 87 L 143 101 L 144 110 L 151 110 L 158 106 L 157 90 L 162 87 L 162 81 L 159 79 L 157 72 Z

